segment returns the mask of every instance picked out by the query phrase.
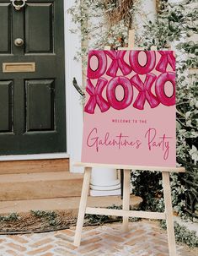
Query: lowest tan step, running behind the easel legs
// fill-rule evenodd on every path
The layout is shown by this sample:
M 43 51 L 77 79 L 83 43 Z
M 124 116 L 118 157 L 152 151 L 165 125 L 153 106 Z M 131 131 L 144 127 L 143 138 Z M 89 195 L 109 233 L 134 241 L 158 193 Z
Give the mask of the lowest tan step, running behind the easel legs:
M 13 212 L 22 213 L 29 212 L 29 210 L 66 210 L 68 214 L 72 213 L 72 215 L 78 215 L 79 202 L 80 197 L 3 201 L 0 203 L 0 214 L 6 215 Z M 130 204 L 132 207 L 137 208 L 141 203 L 141 197 L 131 195 Z M 122 204 L 120 196 L 88 196 L 89 207 L 108 207 L 113 204 L 117 206 Z

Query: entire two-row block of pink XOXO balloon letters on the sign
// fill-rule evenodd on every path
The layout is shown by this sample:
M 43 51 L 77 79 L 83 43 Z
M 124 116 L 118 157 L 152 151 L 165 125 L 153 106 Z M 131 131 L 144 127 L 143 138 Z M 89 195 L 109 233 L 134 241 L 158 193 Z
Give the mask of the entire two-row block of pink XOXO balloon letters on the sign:
M 111 107 L 120 111 L 131 104 L 141 111 L 147 104 L 151 108 L 160 104 L 173 106 L 174 71 L 172 51 L 90 51 L 86 87 L 88 101 L 84 111 L 94 114 L 96 106 L 100 112 L 107 112 Z M 171 95 L 166 94 L 168 82 L 173 87 Z M 118 86 L 123 91 L 121 100 Z

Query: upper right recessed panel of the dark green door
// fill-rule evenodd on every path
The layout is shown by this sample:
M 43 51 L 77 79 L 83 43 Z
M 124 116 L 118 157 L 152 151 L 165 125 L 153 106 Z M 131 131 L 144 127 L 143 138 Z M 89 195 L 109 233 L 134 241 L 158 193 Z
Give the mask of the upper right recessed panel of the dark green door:
M 53 52 L 53 4 L 27 3 L 25 52 Z

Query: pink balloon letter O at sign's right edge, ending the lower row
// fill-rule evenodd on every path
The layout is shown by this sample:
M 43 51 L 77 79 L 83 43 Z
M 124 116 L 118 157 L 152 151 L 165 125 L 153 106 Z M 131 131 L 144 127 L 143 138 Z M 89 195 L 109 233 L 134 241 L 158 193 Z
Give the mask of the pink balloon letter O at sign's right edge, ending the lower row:
M 168 97 L 165 94 L 164 86 L 166 82 L 171 82 L 173 84 L 174 92 L 173 95 Z M 160 74 L 155 84 L 155 93 L 158 96 L 158 100 L 165 106 L 175 105 L 175 74 L 173 72 L 167 72 Z

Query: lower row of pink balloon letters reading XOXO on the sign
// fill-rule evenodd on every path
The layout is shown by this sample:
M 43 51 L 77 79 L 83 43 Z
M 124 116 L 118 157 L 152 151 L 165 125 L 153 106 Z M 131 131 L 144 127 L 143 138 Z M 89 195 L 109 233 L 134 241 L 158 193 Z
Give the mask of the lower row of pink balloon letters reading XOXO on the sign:
M 165 94 L 164 87 L 166 82 L 171 82 L 173 85 L 174 93 L 169 97 Z M 153 85 L 154 84 L 154 85 Z M 121 101 L 116 97 L 116 88 L 120 85 L 124 91 L 124 96 Z M 89 94 L 89 100 L 84 107 L 84 111 L 89 114 L 94 114 L 94 109 L 98 105 L 101 112 L 106 112 L 110 109 L 110 106 L 117 110 L 125 109 L 131 105 L 133 100 L 133 86 L 139 91 L 136 96 L 136 101 L 133 106 L 136 109 L 143 110 L 146 100 L 148 104 L 154 108 L 160 103 L 164 106 L 175 105 L 175 74 L 167 72 L 157 76 L 155 74 L 147 74 L 144 82 L 142 81 L 139 74 L 135 74 L 131 79 L 126 77 L 118 76 L 114 79 L 110 79 L 107 82 L 106 79 L 98 79 L 96 87 L 88 79 L 88 86 L 86 88 Z M 155 86 L 156 95 L 152 92 L 152 86 Z M 102 95 L 102 92 L 106 88 L 106 94 Z

